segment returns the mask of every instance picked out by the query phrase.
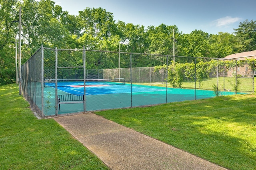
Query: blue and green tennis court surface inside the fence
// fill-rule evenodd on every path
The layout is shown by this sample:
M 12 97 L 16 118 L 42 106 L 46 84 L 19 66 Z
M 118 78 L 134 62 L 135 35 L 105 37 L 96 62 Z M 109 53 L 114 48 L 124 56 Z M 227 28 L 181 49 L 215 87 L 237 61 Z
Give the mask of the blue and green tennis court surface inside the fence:
M 55 83 L 45 82 L 45 91 L 55 91 Z M 50 87 L 50 88 L 49 88 Z M 58 80 L 58 95 L 83 95 L 86 92 L 86 111 L 116 109 L 155 105 L 176 101 L 206 99 L 214 97 L 213 91 L 178 89 L 157 86 L 137 85 L 109 80 Z M 45 94 L 48 94 L 47 92 Z M 221 95 L 232 95 L 234 92 L 222 92 Z M 54 98 L 52 99 L 54 103 Z M 61 104 L 58 114 L 84 111 L 83 103 Z M 50 112 L 49 112 L 50 113 Z M 54 115 L 54 109 L 52 110 Z M 49 114 L 48 114 L 49 115 Z

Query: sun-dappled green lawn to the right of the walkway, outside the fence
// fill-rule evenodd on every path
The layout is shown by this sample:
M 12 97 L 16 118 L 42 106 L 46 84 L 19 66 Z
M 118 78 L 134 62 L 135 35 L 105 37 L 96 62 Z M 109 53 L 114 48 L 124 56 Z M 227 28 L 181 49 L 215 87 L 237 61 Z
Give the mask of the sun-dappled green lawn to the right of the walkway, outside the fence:
M 256 95 L 96 112 L 232 170 L 256 168 Z

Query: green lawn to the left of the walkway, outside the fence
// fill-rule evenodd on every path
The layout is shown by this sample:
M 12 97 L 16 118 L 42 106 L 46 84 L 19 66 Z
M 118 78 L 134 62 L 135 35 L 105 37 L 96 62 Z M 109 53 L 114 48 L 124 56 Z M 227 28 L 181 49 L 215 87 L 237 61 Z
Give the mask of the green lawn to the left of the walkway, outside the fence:
M 38 120 L 18 86 L 0 86 L 1 170 L 108 169 L 54 119 Z

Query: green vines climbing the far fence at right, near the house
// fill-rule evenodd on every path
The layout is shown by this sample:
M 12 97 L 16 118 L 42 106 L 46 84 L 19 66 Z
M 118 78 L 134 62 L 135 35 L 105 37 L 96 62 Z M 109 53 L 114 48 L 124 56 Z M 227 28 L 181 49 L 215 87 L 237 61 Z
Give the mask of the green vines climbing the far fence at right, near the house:
M 248 60 L 249 64 L 253 65 L 254 59 Z M 179 63 L 175 62 L 171 65 L 168 65 L 168 82 L 172 87 L 182 87 L 182 83 L 185 81 L 194 81 L 196 73 L 196 81 L 199 82 L 199 89 L 201 82 L 207 78 L 216 77 L 217 68 L 219 67 L 219 73 L 225 74 L 229 68 L 234 69 L 236 65 L 242 67 L 247 63 L 247 61 L 217 61 L 214 59 L 211 60 L 197 60 L 197 63 Z M 196 70 L 195 70 L 196 65 Z M 166 65 L 155 66 L 155 71 L 160 69 L 166 70 Z M 195 72 L 196 71 L 196 72 Z M 236 72 L 234 72 L 234 77 Z M 241 77 L 241 75 L 240 75 Z M 229 80 L 230 81 L 230 80 Z M 232 84 L 234 87 L 234 85 Z M 236 87 L 233 88 L 234 91 L 238 92 L 239 81 L 236 83 Z

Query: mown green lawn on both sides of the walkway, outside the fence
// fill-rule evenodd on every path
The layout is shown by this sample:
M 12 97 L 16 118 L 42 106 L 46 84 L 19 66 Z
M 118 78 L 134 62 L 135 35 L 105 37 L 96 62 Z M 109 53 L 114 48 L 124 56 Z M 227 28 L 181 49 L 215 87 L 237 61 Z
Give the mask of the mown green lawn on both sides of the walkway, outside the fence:
M 0 100 L 0 169 L 108 169 L 56 121 L 36 119 L 18 86 L 0 86 Z M 96 114 L 228 169 L 256 167 L 256 95 Z

